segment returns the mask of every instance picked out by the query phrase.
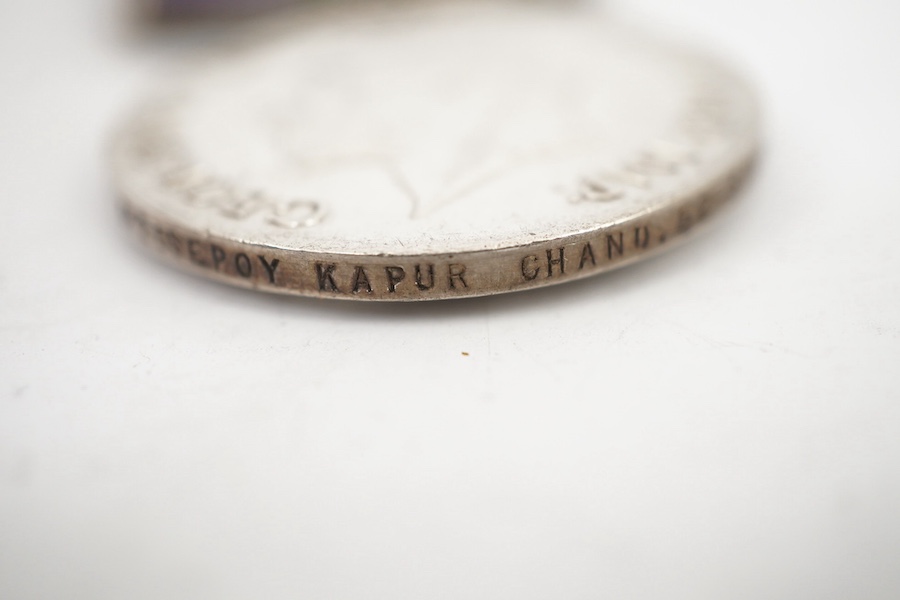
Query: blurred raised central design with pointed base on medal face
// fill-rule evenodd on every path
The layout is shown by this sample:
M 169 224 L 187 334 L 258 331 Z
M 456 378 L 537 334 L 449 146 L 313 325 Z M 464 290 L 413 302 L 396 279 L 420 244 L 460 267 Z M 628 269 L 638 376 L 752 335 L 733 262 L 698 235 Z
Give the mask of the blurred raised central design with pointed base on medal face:
M 305 57 L 285 106 L 270 112 L 275 139 L 304 177 L 379 169 L 421 218 L 602 138 L 599 125 L 585 128 L 602 118 L 591 114 L 587 86 L 568 76 L 564 53 L 529 60 L 521 48 L 484 53 L 440 39 L 423 44 L 427 56 L 379 50 Z

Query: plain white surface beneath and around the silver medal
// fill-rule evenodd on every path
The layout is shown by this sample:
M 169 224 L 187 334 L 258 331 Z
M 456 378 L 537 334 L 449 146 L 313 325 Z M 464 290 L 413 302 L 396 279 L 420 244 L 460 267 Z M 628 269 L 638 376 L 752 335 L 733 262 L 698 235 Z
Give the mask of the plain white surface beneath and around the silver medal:
M 360 306 L 130 245 L 103 144 L 195 42 L 7 3 L 0 597 L 900 596 L 900 5 L 605 9 L 756 79 L 747 193 L 608 276 Z

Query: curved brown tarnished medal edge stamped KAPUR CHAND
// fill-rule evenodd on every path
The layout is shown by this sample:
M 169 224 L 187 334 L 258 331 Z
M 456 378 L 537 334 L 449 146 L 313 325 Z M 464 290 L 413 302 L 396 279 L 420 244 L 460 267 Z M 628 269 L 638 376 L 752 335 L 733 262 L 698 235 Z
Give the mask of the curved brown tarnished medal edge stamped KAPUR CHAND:
M 428 256 L 287 251 L 199 235 L 122 199 L 138 238 L 170 262 L 241 287 L 347 300 L 484 296 L 572 281 L 649 256 L 685 237 L 731 198 L 752 170 L 730 172 L 659 212 L 611 227 L 501 250 Z

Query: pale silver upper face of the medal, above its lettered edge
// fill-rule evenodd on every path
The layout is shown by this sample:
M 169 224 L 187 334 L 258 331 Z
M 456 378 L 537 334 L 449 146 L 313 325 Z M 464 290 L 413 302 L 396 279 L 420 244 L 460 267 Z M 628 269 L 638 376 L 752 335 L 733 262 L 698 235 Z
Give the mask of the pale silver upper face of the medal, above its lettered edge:
M 183 204 L 217 206 L 211 228 L 237 234 L 246 215 L 279 246 L 323 251 L 345 236 L 382 252 L 514 245 L 652 203 L 649 182 L 680 174 L 663 163 L 716 146 L 684 131 L 721 73 L 628 30 L 503 4 L 362 12 L 184 86 L 164 115 L 180 157 L 161 175 L 188 173 Z M 714 125 L 743 126 L 725 96 Z

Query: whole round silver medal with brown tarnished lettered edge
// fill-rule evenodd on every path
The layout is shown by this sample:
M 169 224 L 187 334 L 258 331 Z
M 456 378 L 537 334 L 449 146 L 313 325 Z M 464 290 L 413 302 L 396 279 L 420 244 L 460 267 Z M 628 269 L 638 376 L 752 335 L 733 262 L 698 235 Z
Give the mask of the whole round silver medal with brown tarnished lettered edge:
M 746 85 L 571 6 L 447 2 L 284 17 L 123 129 L 141 239 L 261 290 L 477 296 L 647 256 L 737 188 Z

